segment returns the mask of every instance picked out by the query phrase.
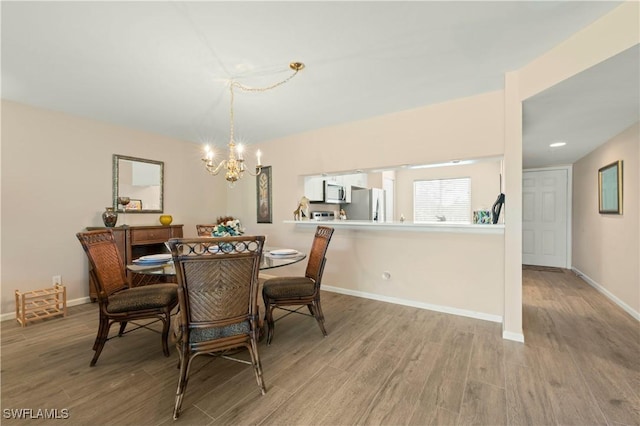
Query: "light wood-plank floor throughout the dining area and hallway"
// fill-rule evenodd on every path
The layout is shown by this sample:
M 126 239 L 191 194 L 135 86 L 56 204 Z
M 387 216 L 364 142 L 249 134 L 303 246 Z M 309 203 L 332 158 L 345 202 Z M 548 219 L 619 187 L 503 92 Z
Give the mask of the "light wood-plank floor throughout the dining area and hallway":
M 526 343 L 501 326 L 324 293 L 315 320 L 276 322 L 249 366 L 199 357 L 173 421 L 177 354 L 137 331 L 89 361 L 97 306 L 1 331 L 2 409 L 68 409 L 73 425 L 638 425 L 640 327 L 570 271 L 524 271 Z M 114 327 L 112 333 L 117 330 Z M 242 356 L 242 354 L 241 354 Z

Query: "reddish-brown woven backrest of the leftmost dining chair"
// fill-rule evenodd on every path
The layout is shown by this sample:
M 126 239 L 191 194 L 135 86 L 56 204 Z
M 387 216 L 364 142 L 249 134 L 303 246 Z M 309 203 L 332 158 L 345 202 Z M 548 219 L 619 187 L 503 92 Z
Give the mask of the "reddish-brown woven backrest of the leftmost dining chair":
M 76 234 L 91 264 L 90 274 L 104 302 L 113 293 L 128 288 L 124 263 L 110 229 Z

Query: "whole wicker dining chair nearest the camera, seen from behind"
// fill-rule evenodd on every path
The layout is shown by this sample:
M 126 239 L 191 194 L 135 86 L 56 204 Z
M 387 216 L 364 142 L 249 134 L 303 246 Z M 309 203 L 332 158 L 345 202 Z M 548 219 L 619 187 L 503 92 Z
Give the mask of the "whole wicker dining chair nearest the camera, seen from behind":
M 217 355 L 253 365 L 260 392 L 266 390 L 258 354 L 258 271 L 264 236 L 171 239 L 180 311 L 176 346 L 180 376 L 173 418 L 180 415 L 189 367 L 198 355 Z M 247 348 L 251 362 L 229 357 Z

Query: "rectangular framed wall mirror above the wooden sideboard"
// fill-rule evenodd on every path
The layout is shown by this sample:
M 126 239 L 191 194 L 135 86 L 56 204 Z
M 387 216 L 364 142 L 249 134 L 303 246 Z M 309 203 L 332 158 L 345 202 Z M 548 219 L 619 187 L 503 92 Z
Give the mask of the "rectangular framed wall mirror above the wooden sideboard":
M 164 163 L 113 154 L 113 207 L 118 212 L 163 213 Z

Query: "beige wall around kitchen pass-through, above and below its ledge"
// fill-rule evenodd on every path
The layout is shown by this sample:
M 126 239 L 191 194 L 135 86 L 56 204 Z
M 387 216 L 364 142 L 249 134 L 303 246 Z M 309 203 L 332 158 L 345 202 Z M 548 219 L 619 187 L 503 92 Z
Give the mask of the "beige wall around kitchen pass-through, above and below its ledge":
M 255 224 L 255 180 L 229 191 L 229 213 L 251 217 L 247 229 L 267 234 L 270 245 L 307 252 L 313 229 L 282 223 L 293 219 L 303 195 L 303 175 L 501 156 L 503 116 L 503 94 L 492 92 L 261 144 L 264 162 L 272 166 L 273 224 Z M 489 206 L 498 191 L 499 163 L 494 165 L 492 172 L 478 173 L 491 188 L 491 195 L 484 197 Z M 452 168 L 441 172 L 451 173 L 445 169 Z M 501 318 L 503 245 L 502 235 L 337 228 L 323 283 Z M 303 268 L 299 264 L 269 273 L 302 273 Z M 384 271 L 391 273 L 391 280 L 382 280 Z

